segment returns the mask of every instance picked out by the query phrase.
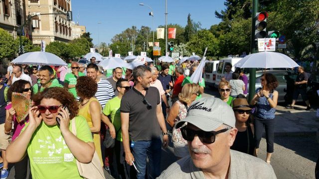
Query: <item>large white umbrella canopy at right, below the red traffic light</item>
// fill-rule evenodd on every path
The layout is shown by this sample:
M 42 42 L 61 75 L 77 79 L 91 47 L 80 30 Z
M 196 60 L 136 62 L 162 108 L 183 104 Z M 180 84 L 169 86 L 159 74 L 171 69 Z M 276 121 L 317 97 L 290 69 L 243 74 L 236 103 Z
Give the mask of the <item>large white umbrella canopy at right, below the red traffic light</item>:
M 287 55 L 278 52 L 259 52 L 250 54 L 237 62 L 239 68 L 294 68 L 299 65 Z

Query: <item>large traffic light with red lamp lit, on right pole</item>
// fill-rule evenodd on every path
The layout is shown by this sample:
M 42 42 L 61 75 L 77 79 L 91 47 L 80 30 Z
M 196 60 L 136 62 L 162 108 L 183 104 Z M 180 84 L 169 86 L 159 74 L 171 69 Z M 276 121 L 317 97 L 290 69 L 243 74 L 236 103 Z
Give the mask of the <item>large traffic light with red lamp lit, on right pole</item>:
M 255 29 L 255 40 L 258 40 L 259 38 L 266 38 L 267 32 L 267 18 L 268 18 L 268 12 L 257 12 L 256 14 L 256 29 Z

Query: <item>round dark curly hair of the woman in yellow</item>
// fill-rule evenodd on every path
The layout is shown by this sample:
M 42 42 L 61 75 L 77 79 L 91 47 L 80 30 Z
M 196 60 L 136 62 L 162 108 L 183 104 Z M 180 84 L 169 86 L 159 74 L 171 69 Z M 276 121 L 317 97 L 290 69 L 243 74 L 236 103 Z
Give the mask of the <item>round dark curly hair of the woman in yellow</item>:
M 84 76 L 77 79 L 75 85 L 78 96 L 91 98 L 98 90 L 98 84 L 94 82 L 90 77 Z

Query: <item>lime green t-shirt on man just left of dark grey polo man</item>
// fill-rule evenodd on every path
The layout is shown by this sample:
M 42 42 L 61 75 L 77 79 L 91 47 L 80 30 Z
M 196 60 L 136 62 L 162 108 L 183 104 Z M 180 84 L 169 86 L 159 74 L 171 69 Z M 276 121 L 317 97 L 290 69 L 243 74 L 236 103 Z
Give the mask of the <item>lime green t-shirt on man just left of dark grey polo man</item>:
M 116 140 L 123 141 L 121 132 L 121 111 L 120 111 L 121 99 L 116 96 L 110 99 L 103 109 L 103 114 L 111 115 L 111 121 L 114 125 L 115 132 L 117 132 Z

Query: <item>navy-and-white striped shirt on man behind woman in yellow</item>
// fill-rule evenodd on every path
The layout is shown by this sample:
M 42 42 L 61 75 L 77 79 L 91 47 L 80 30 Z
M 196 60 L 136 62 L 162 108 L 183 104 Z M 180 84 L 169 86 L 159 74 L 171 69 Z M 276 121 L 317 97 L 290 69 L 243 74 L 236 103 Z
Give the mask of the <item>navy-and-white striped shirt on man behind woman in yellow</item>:
M 107 101 L 112 99 L 115 95 L 112 85 L 109 81 L 101 79 L 100 82 L 98 82 L 97 84 L 98 90 L 95 93 L 95 97 L 99 100 L 103 109 Z

